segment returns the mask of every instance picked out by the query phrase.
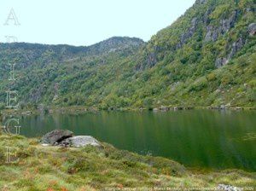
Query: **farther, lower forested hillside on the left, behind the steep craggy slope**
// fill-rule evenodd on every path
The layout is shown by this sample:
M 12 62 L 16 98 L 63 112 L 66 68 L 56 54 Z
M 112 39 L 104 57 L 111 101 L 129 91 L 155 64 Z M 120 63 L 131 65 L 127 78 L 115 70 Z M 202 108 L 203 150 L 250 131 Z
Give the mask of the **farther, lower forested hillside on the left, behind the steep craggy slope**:
M 112 64 L 134 55 L 143 44 L 139 38 L 118 37 L 89 47 L 0 43 L 2 107 L 6 90 L 17 90 L 21 107 L 84 104 L 84 96 L 101 88 L 103 78 L 114 80 Z M 15 64 L 15 83 L 8 80 L 9 64 Z

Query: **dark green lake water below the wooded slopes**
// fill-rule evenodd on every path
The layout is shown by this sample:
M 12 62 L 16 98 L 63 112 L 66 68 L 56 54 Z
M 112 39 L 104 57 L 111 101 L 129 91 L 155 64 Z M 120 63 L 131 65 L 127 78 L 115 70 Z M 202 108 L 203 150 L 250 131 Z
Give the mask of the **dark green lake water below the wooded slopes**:
M 21 134 L 68 129 L 116 148 L 174 159 L 188 167 L 256 171 L 256 112 L 192 110 L 20 117 Z

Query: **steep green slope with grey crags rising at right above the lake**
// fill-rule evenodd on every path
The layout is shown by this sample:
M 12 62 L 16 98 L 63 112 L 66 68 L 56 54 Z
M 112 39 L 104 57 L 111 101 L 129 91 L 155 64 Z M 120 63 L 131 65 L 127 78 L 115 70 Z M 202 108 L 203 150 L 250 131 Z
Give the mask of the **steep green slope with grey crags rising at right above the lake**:
M 196 1 L 141 51 L 136 68 L 148 88 L 135 95 L 149 106 L 255 107 L 255 19 L 250 0 Z

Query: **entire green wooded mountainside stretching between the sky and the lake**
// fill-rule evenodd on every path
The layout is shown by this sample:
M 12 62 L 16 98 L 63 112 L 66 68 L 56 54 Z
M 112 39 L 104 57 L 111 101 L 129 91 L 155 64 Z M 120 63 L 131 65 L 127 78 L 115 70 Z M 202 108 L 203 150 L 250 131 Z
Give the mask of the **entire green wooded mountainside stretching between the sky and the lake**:
M 21 107 L 256 107 L 255 18 L 254 0 L 197 0 L 148 43 L 1 43 L 2 107 L 9 89 Z

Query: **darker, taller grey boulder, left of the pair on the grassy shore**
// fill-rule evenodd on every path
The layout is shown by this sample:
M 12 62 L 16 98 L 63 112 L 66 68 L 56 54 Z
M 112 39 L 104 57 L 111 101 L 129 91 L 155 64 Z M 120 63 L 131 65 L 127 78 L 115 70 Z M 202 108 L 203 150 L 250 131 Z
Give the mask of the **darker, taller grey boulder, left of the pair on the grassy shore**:
M 52 130 L 41 138 L 42 144 L 57 145 L 63 140 L 73 136 L 70 130 Z

